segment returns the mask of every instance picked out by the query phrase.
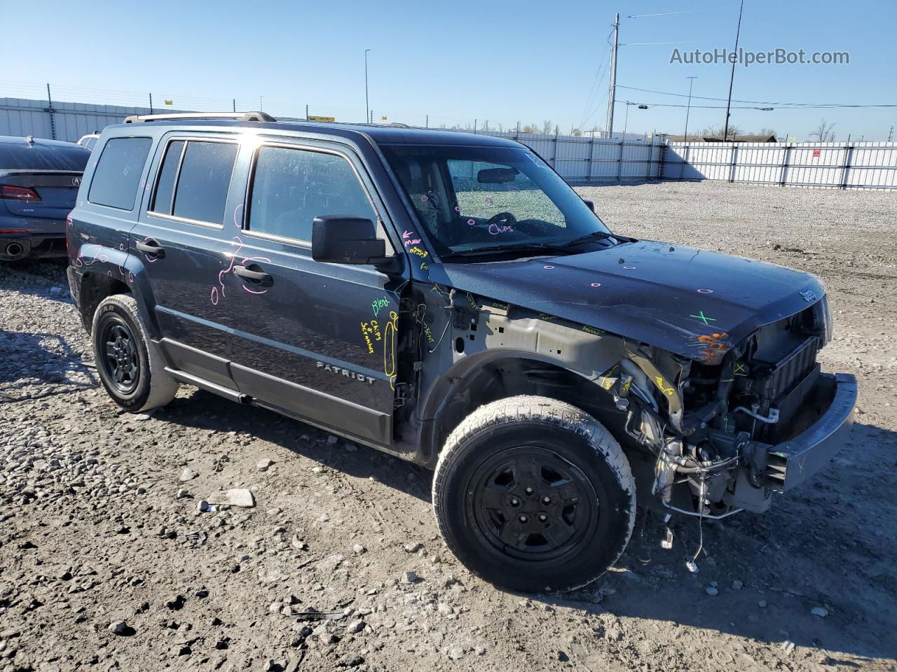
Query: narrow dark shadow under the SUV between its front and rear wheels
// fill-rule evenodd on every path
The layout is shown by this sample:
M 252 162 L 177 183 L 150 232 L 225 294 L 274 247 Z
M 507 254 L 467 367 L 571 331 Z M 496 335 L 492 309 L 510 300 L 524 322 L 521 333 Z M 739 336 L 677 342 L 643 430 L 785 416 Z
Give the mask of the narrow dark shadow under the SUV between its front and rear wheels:
M 224 401 L 211 392 L 196 390 L 189 397 L 172 401 L 154 417 L 218 432 L 245 432 L 318 461 L 329 469 L 355 478 L 373 477 L 406 495 L 431 501 L 431 471 L 362 444 L 353 444 L 358 450 L 349 452 L 342 438 L 335 445 L 327 444 L 326 431 L 271 410 Z M 308 435 L 310 440 L 303 440 L 302 435 Z

